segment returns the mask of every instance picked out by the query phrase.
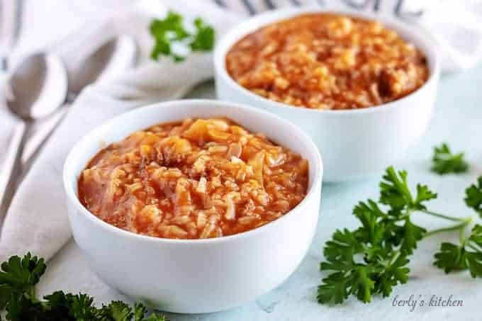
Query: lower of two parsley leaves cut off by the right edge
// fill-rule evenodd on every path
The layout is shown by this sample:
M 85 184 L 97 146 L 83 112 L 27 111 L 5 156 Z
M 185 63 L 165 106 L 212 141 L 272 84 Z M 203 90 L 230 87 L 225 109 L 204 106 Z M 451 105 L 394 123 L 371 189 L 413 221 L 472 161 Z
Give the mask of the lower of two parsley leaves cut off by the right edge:
M 482 277 L 482 226 L 475 225 L 459 245 L 442 243 L 434 264 L 445 273 L 469 269 L 473 278 Z

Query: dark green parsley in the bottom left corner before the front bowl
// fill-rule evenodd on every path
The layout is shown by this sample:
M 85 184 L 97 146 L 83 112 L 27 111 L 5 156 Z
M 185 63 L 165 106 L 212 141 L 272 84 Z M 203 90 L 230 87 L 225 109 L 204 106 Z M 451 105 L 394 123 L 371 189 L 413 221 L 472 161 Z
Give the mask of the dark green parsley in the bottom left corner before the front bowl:
M 112 301 L 96 308 L 94 299 L 82 293 L 57 291 L 39 300 L 35 296 L 35 285 L 45 269 L 44 260 L 30 253 L 23 258 L 11 257 L 1 264 L 0 312 L 4 312 L 6 320 L 167 321 L 163 315 L 148 315 L 147 308 L 140 303 L 131 308 L 123 302 Z

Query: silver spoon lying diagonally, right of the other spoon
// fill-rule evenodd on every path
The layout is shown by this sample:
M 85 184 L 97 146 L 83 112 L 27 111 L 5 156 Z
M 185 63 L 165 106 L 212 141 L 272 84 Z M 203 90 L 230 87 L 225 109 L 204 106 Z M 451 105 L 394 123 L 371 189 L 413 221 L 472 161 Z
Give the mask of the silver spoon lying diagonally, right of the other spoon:
M 40 147 L 67 113 L 67 109 L 84 87 L 99 80 L 115 78 L 133 67 L 138 57 L 138 46 L 135 40 L 127 35 L 120 35 L 108 40 L 94 50 L 76 68 L 69 69 L 69 89 L 67 100 L 59 111 L 38 130 L 26 143 L 21 158 L 22 164 L 28 167 Z

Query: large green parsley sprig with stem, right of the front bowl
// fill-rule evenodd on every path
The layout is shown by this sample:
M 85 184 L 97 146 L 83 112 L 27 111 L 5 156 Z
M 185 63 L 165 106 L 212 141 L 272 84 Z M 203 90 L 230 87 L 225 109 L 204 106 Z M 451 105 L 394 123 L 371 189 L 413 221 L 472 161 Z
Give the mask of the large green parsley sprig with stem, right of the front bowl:
M 427 203 L 437 198 L 437 193 L 422 184 L 417 184 L 415 193 L 410 191 L 406 171 L 388 167 L 379 187 L 378 202 L 369 199 L 354 207 L 360 227 L 336 230 L 326 242 L 320 269 L 331 274 L 318 286 L 319 303 L 342 303 L 349 295 L 364 303 L 375 294 L 387 297 L 394 286 L 408 281 L 410 255 L 418 242 L 439 232 L 459 231 L 460 244 L 442 243 L 435 254 L 435 266 L 447 273 L 469 269 L 471 276 L 482 276 L 482 226 L 475 225 L 466 232 L 473 225 L 473 216 L 454 218 L 428 210 Z M 482 215 L 482 176 L 478 185 L 466 189 L 465 201 Z M 427 231 L 413 223 L 414 213 L 455 223 Z

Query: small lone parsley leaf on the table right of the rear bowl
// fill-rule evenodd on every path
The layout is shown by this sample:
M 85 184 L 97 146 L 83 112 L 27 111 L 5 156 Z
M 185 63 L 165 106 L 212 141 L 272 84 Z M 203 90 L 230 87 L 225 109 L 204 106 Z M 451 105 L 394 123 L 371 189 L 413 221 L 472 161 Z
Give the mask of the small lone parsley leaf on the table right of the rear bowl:
M 469 169 L 469 164 L 464 160 L 464 153 L 452 154 L 449 145 L 442 143 L 434 147 L 431 170 L 437 174 L 463 173 Z

